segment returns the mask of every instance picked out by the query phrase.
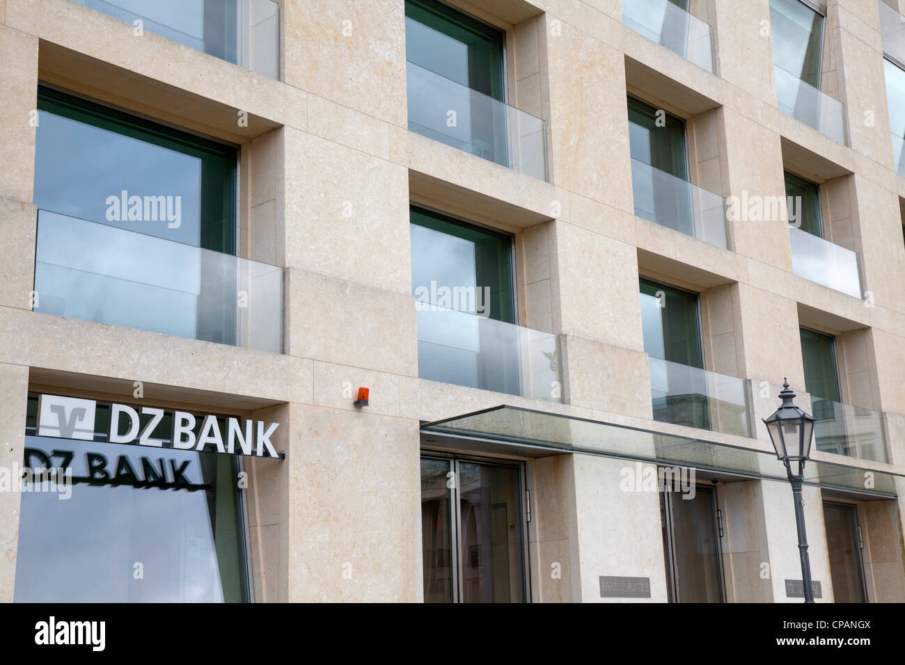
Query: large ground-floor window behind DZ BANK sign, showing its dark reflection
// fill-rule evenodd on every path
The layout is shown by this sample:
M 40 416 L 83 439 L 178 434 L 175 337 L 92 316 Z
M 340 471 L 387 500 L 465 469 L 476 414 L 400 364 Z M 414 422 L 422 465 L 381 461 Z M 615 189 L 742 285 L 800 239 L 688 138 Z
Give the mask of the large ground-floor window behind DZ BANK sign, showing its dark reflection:
M 30 396 L 24 468 L 70 469 L 71 497 L 22 493 L 15 602 L 248 600 L 233 456 L 110 443 L 109 405 L 97 405 L 93 442 L 35 436 L 36 413 Z M 167 415 L 151 436 L 171 428 Z

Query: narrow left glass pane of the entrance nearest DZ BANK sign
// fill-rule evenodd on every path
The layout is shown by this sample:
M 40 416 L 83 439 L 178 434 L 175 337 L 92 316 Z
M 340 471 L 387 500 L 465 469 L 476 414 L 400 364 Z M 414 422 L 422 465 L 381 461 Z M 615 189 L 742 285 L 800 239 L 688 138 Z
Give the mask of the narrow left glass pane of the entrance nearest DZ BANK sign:
M 421 543 L 424 603 L 452 603 L 450 462 L 421 461 Z

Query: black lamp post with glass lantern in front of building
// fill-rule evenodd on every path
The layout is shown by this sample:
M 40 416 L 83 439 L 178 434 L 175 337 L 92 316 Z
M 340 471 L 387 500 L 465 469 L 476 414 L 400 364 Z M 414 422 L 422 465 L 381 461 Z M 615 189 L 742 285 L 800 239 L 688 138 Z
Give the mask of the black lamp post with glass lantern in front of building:
M 807 534 L 805 533 L 805 501 L 801 496 L 805 481 L 805 461 L 809 460 L 811 441 L 814 439 L 814 416 L 795 406 L 795 393 L 789 388 L 788 379 L 783 379 L 783 389 L 779 393 L 783 401 L 769 418 L 764 419 L 770 441 L 776 450 L 776 457 L 786 465 L 786 474 L 792 485 L 795 501 L 795 524 L 798 527 L 798 554 L 801 556 L 801 576 L 805 586 L 805 603 L 814 603 L 814 585 L 811 582 L 811 561 L 807 556 Z M 797 462 L 797 473 L 793 465 Z

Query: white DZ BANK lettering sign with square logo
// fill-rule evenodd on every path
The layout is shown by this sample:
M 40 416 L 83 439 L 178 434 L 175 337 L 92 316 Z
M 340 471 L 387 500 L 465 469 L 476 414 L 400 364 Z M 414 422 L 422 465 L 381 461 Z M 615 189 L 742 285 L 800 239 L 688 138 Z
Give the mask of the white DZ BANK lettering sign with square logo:
M 91 399 L 42 394 L 38 397 L 38 436 L 94 441 L 97 403 Z M 143 418 L 141 416 L 144 416 Z M 169 416 L 172 426 L 168 439 L 152 435 Z M 198 422 L 201 422 L 200 428 Z M 146 421 L 144 427 L 142 420 Z M 251 457 L 283 459 L 273 450 L 271 436 L 280 423 L 215 416 L 195 416 L 186 411 L 165 411 L 155 406 L 133 407 L 110 404 L 110 443 L 173 448 L 179 451 L 223 452 Z M 195 434 L 197 430 L 197 434 Z

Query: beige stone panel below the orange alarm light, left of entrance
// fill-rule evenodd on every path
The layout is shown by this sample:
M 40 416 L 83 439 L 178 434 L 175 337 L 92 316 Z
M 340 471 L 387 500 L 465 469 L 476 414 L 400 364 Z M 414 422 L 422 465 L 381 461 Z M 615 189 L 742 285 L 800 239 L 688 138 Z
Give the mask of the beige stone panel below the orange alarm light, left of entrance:
M 289 599 L 420 602 L 417 421 L 304 407 L 291 434 Z

